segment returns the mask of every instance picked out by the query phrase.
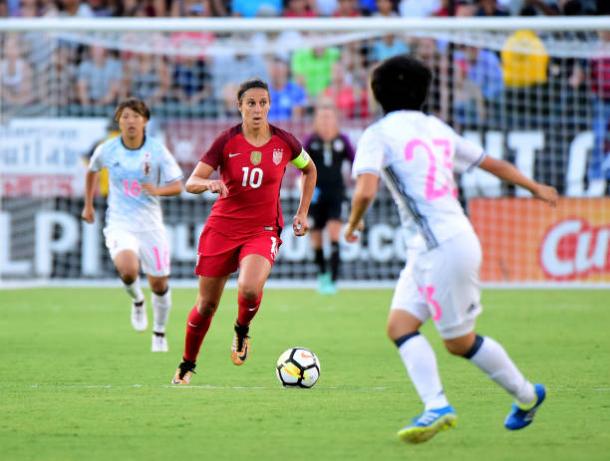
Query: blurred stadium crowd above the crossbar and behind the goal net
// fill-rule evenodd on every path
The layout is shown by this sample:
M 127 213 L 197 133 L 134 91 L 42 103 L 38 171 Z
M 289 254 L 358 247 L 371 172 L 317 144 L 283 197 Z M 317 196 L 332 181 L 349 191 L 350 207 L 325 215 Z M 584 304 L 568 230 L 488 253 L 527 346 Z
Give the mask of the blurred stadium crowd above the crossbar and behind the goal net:
M 2 11 L 10 17 L 534 16 L 610 14 L 610 2 L 0 0 Z M 368 120 L 374 111 L 366 85 L 368 71 L 383 59 L 411 53 L 435 74 L 427 110 L 458 130 L 557 123 L 564 125 L 561 135 L 592 129 L 596 153 L 590 177 L 610 176 L 603 160 L 609 157 L 603 153 L 610 150 L 608 53 L 593 58 L 553 56 L 545 48 L 545 37 L 533 31 L 516 31 L 493 49 L 406 34 L 322 46 L 315 45 L 314 35 L 296 31 L 248 36 L 151 34 L 148 49 L 142 48 L 141 36 L 129 33 L 99 43 L 60 38 L 51 44 L 35 33 L 2 38 L 0 94 L 5 118 L 110 115 L 119 100 L 135 96 L 161 117 L 222 120 L 237 115 L 237 85 L 258 76 L 270 84 L 273 123 L 309 117 L 320 97 L 332 99 L 344 119 Z M 610 36 L 603 32 L 568 38 L 590 41 L 600 49 L 610 46 Z M 213 45 L 224 51 L 211 52 Z M 526 59 L 515 51 L 523 46 L 532 51 Z

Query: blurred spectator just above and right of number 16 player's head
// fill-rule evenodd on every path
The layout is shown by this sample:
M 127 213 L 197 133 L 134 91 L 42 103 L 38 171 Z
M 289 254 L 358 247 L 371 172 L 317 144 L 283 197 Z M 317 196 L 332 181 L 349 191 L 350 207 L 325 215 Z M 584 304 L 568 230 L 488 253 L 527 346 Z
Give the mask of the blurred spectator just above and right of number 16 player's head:
M 149 107 L 165 101 L 170 75 L 163 55 L 136 53 L 124 63 L 124 71 L 122 99 L 135 97 Z

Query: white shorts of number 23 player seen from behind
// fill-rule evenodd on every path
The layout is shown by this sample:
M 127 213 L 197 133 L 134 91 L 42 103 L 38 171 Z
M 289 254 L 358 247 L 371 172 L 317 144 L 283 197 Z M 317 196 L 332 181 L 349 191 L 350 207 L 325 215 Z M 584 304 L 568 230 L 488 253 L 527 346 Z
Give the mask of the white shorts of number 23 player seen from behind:
M 470 231 L 433 250 L 411 252 L 391 308 L 407 311 L 422 323 L 432 318 L 443 339 L 464 336 L 474 330 L 482 310 L 480 265 L 481 245 Z

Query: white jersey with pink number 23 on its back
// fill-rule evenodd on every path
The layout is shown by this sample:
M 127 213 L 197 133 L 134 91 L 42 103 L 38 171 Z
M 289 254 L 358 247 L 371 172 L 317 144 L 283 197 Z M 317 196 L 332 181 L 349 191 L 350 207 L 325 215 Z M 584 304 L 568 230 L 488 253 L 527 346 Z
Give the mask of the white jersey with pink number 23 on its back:
M 454 171 L 478 165 L 485 153 L 438 118 L 418 111 L 390 112 L 358 142 L 353 176 L 381 176 L 398 206 L 407 247 L 428 249 L 472 231 L 457 200 Z

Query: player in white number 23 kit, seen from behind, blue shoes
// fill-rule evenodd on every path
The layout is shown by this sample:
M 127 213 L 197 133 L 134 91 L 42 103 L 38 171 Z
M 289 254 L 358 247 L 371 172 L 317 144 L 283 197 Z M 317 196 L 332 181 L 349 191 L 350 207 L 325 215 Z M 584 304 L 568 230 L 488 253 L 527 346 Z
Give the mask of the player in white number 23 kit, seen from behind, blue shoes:
M 504 423 L 507 429 L 530 424 L 545 398 L 544 386 L 526 380 L 499 343 L 474 331 L 481 312 L 481 247 L 456 198 L 454 172 L 478 166 L 551 206 L 557 201 L 553 187 L 486 156 L 481 147 L 421 112 L 431 79 L 430 70 L 409 56 L 390 58 L 373 70 L 371 88 L 384 117 L 369 126 L 358 142 L 353 165 L 356 188 L 345 229 L 348 242 L 357 240 L 382 177 L 407 236 L 407 265 L 394 292 L 388 335 L 425 405 L 424 412 L 398 432 L 410 443 L 424 442 L 457 421 L 443 391 L 434 351 L 419 333 L 428 319 L 450 353 L 473 362 L 515 398 Z

